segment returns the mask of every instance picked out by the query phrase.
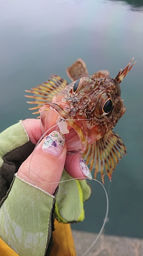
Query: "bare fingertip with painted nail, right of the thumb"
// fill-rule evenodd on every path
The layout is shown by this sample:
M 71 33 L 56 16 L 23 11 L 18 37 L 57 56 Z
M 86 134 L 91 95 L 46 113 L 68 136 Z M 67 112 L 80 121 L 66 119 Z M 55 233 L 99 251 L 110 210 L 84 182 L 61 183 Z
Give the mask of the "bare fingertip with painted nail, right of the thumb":
M 92 179 L 92 174 L 80 153 L 66 157 L 65 169 L 73 178 Z

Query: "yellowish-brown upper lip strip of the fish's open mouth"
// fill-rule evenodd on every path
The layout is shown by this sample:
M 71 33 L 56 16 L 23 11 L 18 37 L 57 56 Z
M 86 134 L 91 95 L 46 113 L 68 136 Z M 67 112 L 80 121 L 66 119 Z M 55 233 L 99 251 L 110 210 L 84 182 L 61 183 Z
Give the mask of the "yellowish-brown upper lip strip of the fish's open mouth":
M 46 105 L 51 106 L 54 110 L 56 110 L 59 115 L 64 118 L 64 120 L 68 123 L 69 126 L 71 126 L 77 133 L 80 142 L 81 142 L 81 146 L 82 146 L 82 153 L 85 152 L 87 145 L 88 145 L 88 139 L 83 135 L 83 132 L 81 130 L 81 128 L 75 123 L 75 121 L 73 119 L 71 119 L 71 117 L 69 116 L 68 113 L 66 113 L 61 106 L 59 106 L 58 104 L 52 103 L 52 102 L 47 102 Z

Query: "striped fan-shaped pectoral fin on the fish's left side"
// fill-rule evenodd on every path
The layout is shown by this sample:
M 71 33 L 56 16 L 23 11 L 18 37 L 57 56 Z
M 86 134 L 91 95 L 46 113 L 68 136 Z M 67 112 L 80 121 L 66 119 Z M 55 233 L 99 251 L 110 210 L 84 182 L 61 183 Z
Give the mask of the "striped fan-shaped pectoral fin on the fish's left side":
M 25 95 L 25 97 L 35 99 L 35 101 L 27 101 L 27 103 L 38 104 L 34 108 L 30 108 L 30 110 L 40 109 L 44 103 L 51 102 L 53 96 L 68 85 L 68 82 L 60 76 L 51 75 L 49 78 L 49 80 L 39 86 L 34 87 L 31 90 L 25 90 L 25 92 L 34 94 Z M 38 113 L 39 112 L 34 112 L 33 114 Z

